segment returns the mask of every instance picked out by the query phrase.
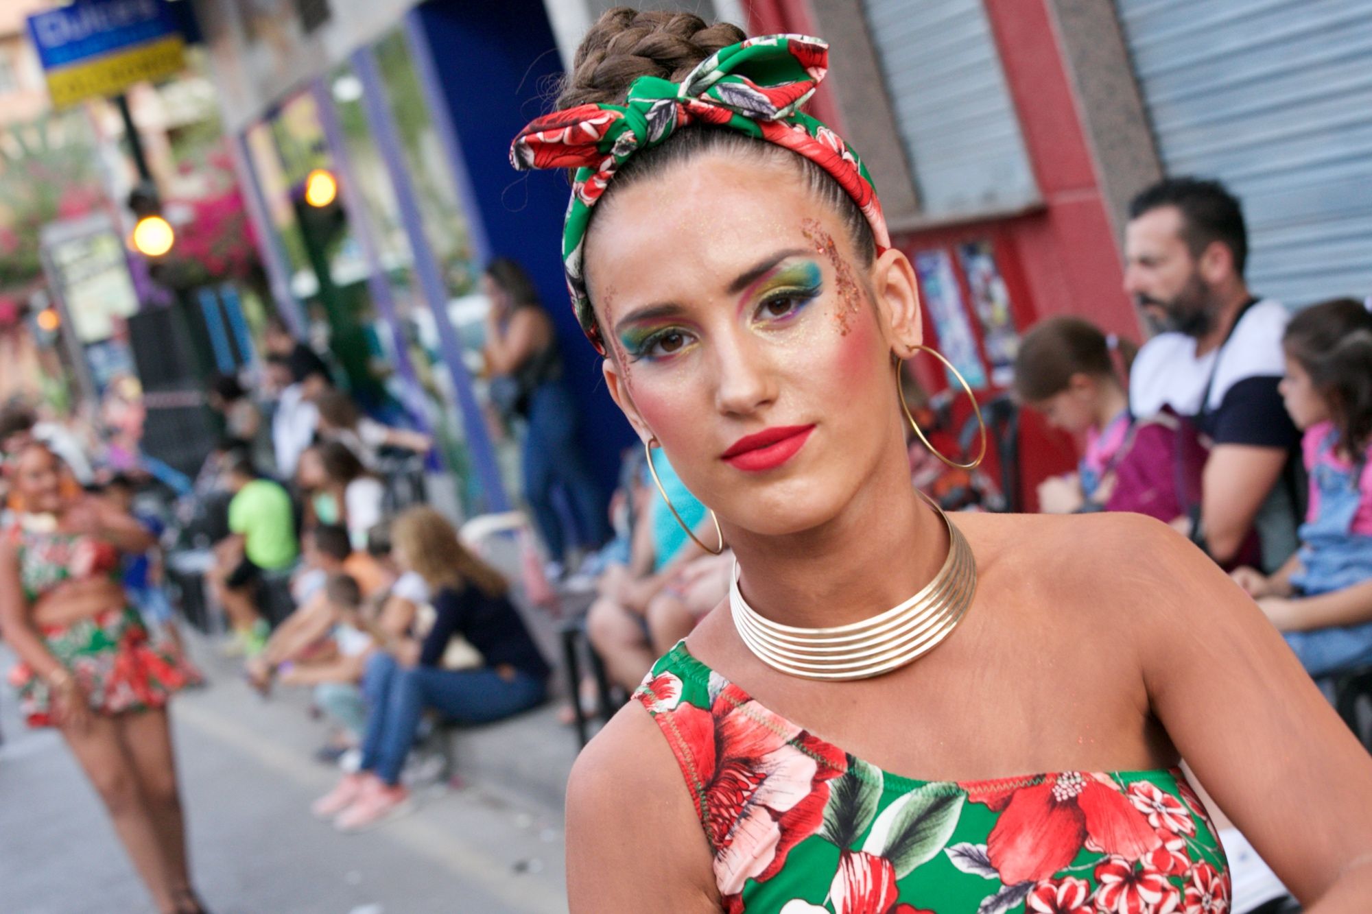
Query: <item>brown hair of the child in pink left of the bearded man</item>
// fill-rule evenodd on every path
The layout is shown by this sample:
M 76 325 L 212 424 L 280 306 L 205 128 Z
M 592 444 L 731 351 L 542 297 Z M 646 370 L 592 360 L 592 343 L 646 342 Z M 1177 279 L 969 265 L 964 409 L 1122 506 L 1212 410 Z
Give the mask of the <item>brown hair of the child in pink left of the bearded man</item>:
M 1118 336 L 1106 336 L 1080 317 L 1050 317 L 1034 325 L 1015 353 L 1015 397 L 1037 403 L 1067 390 L 1073 375 L 1106 377 L 1128 386 L 1129 368 L 1139 347 Z M 1115 366 L 1114 355 L 1121 365 Z

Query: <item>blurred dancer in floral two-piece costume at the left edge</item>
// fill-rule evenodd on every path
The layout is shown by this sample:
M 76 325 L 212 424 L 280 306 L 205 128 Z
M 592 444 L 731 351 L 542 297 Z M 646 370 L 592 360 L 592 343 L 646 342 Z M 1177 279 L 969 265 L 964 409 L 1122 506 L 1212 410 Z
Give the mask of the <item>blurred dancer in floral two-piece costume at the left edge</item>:
M 55 726 L 104 800 L 165 914 L 203 911 L 191 887 L 166 703 L 196 674 L 154 644 L 121 583 L 121 552 L 148 549 L 133 517 L 70 487 L 43 443 L 11 446 L 16 520 L 0 538 L 0 631 L 30 726 Z

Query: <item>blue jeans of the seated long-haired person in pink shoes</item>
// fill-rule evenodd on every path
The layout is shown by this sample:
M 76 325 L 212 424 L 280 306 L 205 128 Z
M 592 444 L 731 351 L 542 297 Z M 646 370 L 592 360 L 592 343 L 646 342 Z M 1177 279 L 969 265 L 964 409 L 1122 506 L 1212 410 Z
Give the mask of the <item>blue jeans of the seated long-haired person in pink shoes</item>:
M 368 704 L 362 770 L 394 785 L 425 708 L 457 723 L 490 723 L 543 701 L 547 681 L 521 671 L 506 679 L 490 667 L 402 667 L 391 655 L 376 653 L 362 674 L 362 696 Z

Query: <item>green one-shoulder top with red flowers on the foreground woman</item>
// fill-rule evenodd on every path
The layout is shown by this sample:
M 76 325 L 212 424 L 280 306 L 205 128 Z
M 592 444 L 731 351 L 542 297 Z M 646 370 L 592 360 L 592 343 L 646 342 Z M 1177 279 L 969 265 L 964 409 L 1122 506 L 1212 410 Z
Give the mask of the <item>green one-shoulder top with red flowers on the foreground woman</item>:
M 1179 769 L 888 774 L 678 644 L 634 694 L 667 737 L 730 914 L 1224 914 L 1224 849 Z

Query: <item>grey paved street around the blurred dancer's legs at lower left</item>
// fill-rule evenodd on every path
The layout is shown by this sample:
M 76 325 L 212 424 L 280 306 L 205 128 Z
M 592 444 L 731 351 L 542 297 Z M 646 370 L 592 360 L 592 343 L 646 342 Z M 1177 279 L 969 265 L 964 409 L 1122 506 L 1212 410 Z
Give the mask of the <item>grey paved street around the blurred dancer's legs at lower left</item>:
M 217 914 L 565 910 L 560 803 L 575 740 L 552 707 L 460 734 L 461 789 L 428 788 L 417 812 L 346 836 L 309 814 L 336 771 L 310 759 L 322 726 L 303 694 L 263 703 L 226 661 L 209 666 L 213 685 L 180 697 L 173 718 L 193 866 Z M 151 910 L 60 737 L 23 729 L 12 694 L 0 697 L 0 911 Z

